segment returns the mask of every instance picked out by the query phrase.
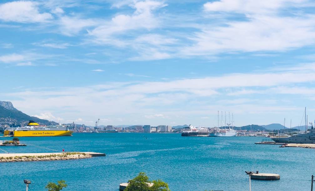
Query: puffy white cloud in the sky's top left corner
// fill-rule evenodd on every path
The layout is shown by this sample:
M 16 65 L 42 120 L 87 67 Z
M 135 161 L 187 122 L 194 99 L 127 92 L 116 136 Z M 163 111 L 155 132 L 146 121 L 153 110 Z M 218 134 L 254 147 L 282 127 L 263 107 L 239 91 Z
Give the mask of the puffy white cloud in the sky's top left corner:
M 20 23 L 47 22 L 53 19 L 49 13 L 39 13 L 38 3 L 14 1 L 0 4 L 0 19 Z

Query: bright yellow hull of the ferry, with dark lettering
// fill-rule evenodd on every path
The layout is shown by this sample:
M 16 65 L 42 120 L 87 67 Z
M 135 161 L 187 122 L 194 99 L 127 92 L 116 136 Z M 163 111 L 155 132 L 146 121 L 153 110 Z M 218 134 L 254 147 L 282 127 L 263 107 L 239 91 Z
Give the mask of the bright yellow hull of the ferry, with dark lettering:
M 13 133 L 12 133 L 13 132 Z M 48 136 L 71 136 L 73 131 L 70 130 L 15 130 L 4 131 L 4 136 L 13 135 L 14 137 L 48 137 Z

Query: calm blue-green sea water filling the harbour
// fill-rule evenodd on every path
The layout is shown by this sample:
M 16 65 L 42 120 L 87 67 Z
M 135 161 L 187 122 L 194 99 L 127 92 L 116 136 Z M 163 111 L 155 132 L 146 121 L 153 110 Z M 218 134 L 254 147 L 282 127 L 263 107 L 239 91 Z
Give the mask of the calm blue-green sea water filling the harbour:
M 278 181 L 252 180 L 252 190 L 310 190 L 315 150 L 255 145 L 257 137 L 181 137 L 180 134 L 103 133 L 72 137 L 23 137 L 26 143 L 66 151 L 106 153 L 67 161 L 0 163 L 1 190 L 45 190 L 63 179 L 63 190 L 116 190 L 139 172 L 162 179 L 171 190 L 248 190 L 244 171 L 278 173 Z M 34 146 L 2 147 L 14 152 L 48 152 Z M 53 151 L 52 151 L 53 152 Z

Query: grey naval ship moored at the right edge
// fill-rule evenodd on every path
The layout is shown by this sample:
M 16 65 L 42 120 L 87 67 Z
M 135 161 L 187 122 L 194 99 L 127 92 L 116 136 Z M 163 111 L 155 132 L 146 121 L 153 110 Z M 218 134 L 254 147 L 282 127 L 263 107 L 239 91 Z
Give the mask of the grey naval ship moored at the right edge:
M 313 124 L 311 124 L 311 128 L 308 129 L 307 133 L 301 134 L 293 134 L 288 137 L 272 137 L 271 139 L 274 140 L 276 143 L 305 143 L 305 144 L 314 144 L 315 143 L 315 129 Z

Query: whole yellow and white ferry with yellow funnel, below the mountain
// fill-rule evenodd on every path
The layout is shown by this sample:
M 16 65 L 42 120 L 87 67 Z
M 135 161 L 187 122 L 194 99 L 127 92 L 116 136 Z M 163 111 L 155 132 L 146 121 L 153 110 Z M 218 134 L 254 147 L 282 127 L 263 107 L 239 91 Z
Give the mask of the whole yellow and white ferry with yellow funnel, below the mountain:
M 34 121 L 30 121 L 25 127 L 6 128 L 4 136 L 13 137 L 43 137 L 43 136 L 71 136 L 73 131 L 70 131 L 66 125 L 39 125 Z

